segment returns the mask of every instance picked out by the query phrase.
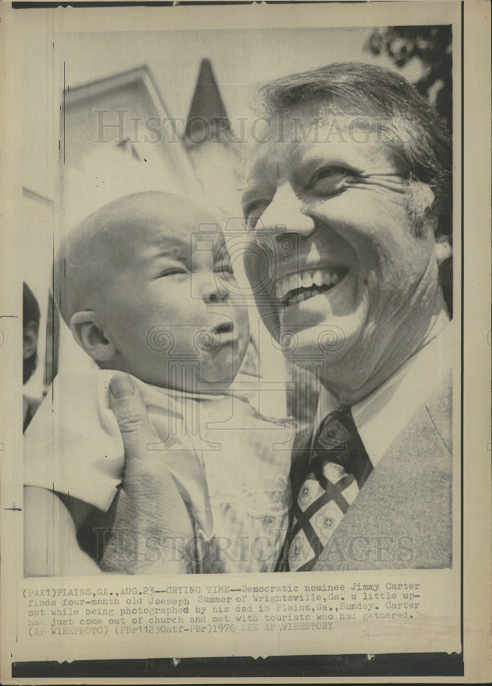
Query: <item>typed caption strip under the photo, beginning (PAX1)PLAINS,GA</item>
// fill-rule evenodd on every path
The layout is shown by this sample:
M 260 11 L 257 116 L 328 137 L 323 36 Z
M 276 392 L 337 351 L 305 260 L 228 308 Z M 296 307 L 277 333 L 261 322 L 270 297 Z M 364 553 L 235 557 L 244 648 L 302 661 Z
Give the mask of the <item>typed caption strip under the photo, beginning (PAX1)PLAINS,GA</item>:
M 38 646 L 45 658 L 67 660 L 87 657 L 89 643 L 91 657 L 102 657 L 104 646 L 115 657 L 120 649 L 119 657 L 127 657 L 128 646 L 132 657 L 200 657 L 211 646 L 224 656 L 375 653 L 388 652 L 388 641 L 395 652 L 458 651 L 459 608 L 443 595 L 449 572 L 370 581 L 351 576 L 331 584 L 292 575 L 285 582 L 244 583 L 242 577 L 227 584 L 216 576 L 187 584 L 176 577 L 154 584 L 91 579 L 76 586 L 25 580 L 19 649 L 32 654 Z M 98 649 L 101 655 L 93 654 Z

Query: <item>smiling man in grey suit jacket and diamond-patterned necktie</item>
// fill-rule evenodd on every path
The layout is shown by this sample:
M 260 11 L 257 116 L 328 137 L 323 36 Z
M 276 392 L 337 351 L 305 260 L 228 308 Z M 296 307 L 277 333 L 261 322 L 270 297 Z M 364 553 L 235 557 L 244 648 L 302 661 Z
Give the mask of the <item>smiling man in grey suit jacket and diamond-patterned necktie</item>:
M 449 567 L 447 135 L 408 82 L 367 64 L 261 95 L 246 272 L 272 336 L 324 388 L 294 449 L 281 569 Z

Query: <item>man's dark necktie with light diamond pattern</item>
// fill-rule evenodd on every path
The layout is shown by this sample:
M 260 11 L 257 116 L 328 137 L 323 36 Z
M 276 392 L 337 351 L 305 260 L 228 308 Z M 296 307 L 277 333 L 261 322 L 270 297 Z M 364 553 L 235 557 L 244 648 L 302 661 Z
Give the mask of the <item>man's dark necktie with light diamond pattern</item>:
M 294 503 L 290 571 L 310 571 L 373 470 L 350 408 L 334 410 L 314 438 Z

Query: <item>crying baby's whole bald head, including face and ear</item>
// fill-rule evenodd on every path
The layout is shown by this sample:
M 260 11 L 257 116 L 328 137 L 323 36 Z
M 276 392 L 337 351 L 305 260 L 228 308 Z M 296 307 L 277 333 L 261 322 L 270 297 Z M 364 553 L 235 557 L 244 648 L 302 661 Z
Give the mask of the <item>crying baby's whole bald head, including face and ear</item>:
M 99 366 L 180 390 L 233 381 L 248 315 L 200 206 L 158 191 L 110 202 L 67 234 L 56 271 L 62 317 Z

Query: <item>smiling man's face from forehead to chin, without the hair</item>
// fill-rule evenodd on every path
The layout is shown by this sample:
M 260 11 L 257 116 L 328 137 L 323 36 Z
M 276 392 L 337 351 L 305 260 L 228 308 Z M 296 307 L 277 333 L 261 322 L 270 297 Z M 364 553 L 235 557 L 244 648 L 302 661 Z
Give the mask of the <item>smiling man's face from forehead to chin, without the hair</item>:
M 243 196 L 259 309 L 277 339 L 294 334 L 296 362 L 323 359 L 325 381 L 353 366 L 384 377 L 436 314 L 433 222 L 412 233 L 401 171 L 374 132 L 316 100 L 289 115 L 257 145 Z

